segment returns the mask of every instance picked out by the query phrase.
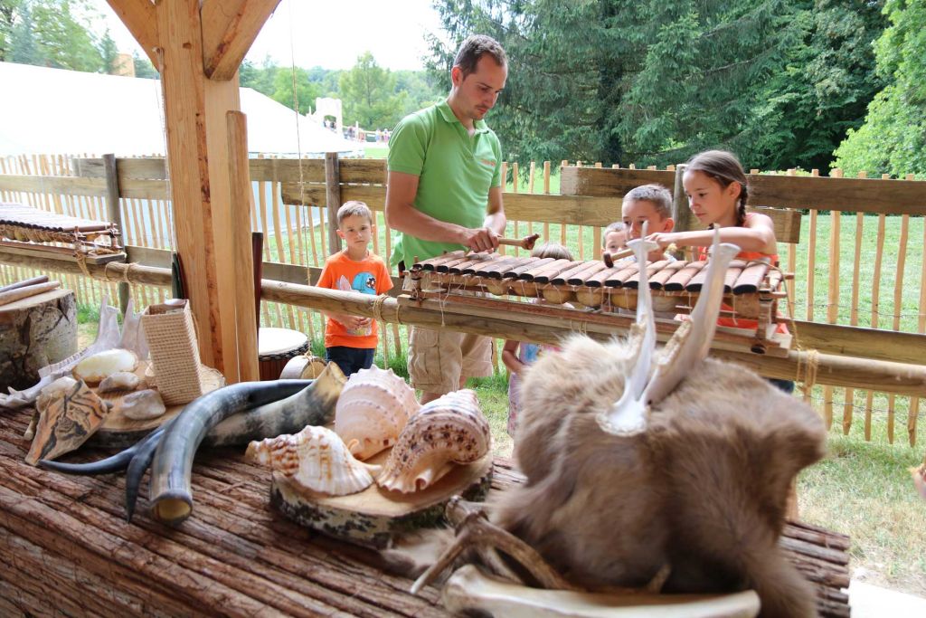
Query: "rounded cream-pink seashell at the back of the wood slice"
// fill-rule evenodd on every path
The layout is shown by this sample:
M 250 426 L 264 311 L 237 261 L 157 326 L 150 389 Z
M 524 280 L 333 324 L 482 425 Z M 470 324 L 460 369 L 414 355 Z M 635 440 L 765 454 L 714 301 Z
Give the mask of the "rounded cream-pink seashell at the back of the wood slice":
M 334 431 L 354 457 L 368 460 L 395 444 L 419 408 L 405 380 L 374 365 L 348 378 L 334 408 Z

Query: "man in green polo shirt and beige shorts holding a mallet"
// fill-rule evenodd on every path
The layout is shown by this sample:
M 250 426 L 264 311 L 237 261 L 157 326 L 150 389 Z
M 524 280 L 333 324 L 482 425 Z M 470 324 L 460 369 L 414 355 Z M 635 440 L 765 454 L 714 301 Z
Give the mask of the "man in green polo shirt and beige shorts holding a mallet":
M 485 124 L 507 80 L 505 50 L 470 36 L 450 70 L 447 99 L 402 119 L 389 138 L 386 222 L 400 232 L 393 264 L 444 251 L 488 251 L 505 232 L 502 149 Z M 412 327 L 408 373 L 421 403 L 492 374 L 488 337 Z

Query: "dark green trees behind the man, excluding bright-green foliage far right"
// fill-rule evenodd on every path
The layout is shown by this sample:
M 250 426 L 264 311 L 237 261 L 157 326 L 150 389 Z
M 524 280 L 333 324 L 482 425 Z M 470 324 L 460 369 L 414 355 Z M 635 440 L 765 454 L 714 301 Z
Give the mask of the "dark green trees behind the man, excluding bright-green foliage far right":
M 490 124 L 514 159 L 678 163 L 727 147 L 750 167 L 829 159 L 879 87 L 880 0 L 439 0 L 449 45 L 508 53 Z

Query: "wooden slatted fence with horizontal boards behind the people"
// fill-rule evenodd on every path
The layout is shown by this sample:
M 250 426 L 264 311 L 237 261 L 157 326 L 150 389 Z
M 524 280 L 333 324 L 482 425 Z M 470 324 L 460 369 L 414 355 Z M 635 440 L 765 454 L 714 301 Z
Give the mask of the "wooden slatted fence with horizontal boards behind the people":
M 169 264 L 173 229 L 169 180 L 162 158 L 117 159 L 115 179 L 125 243 L 132 261 Z M 684 208 L 679 170 L 619 169 L 600 164 L 557 166 L 531 163 L 506 169 L 507 235 L 541 233 L 569 246 L 579 259 L 600 257 L 602 229 L 619 220 L 620 196 L 633 186 L 662 183 L 675 188 L 677 216 Z M 378 229 L 373 251 L 388 259 L 393 233 L 385 224 L 385 161 L 382 159 L 256 158 L 251 160 L 256 195 L 252 227 L 265 234 L 265 278 L 314 281 L 332 248 L 328 202 L 336 208 L 359 199 L 373 209 Z M 912 180 L 845 179 L 816 171 L 799 175 L 750 174 L 751 203 L 769 210 L 782 245 L 787 271 L 795 272 L 788 308 L 795 318 L 798 346 L 871 359 L 926 363 L 926 183 Z M 557 190 L 558 184 L 558 190 Z M 102 159 L 35 156 L 0 158 L 0 200 L 19 201 L 56 212 L 106 220 L 106 171 Z M 803 215 L 803 216 L 802 216 Z M 685 224 L 684 221 L 680 223 Z M 921 242 L 916 242 L 920 239 Z M 503 247 L 504 248 L 504 247 Z M 510 247 L 508 248 L 509 251 Z M 520 249 L 514 249 L 520 253 Z M 0 282 L 31 274 L 30 269 L 0 266 Z M 66 275 L 79 302 L 96 305 L 103 293 L 115 297 L 113 284 Z M 883 288 L 883 289 L 882 289 Z M 145 306 L 167 291 L 145 285 L 133 289 Z M 319 314 L 290 305 L 262 303 L 261 322 L 281 325 L 320 339 Z M 379 354 L 386 364 L 403 357 L 405 334 L 382 329 Z M 915 444 L 919 397 L 895 397 L 826 386 L 815 389 L 814 403 L 828 424 L 840 411 L 848 433 L 864 416 L 865 438 L 883 426 L 895 439 L 895 418 L 906 413 L 907 442 Z M 872 419 L 883 419 L 874 423 Z

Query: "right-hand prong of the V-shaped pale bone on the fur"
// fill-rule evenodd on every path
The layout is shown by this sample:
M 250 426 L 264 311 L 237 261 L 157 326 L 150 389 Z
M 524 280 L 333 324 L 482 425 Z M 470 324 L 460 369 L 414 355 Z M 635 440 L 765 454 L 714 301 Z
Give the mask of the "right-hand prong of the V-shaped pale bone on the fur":
M 682 322 L 663 348 L 662 358 L 657 361 L 653 377 L 646 385 L 644 399 L 648 405 L 656 404 L 668 396 L 694 364 L 707 357 L 710 342 L 717 330 L 717 314 L 723 299 L 723 279 L 730 261 L 739 252 L 739 246 L 721 243 L 720 230 L 714 231 L 705 284 L 694 305 L 691 319 Z

